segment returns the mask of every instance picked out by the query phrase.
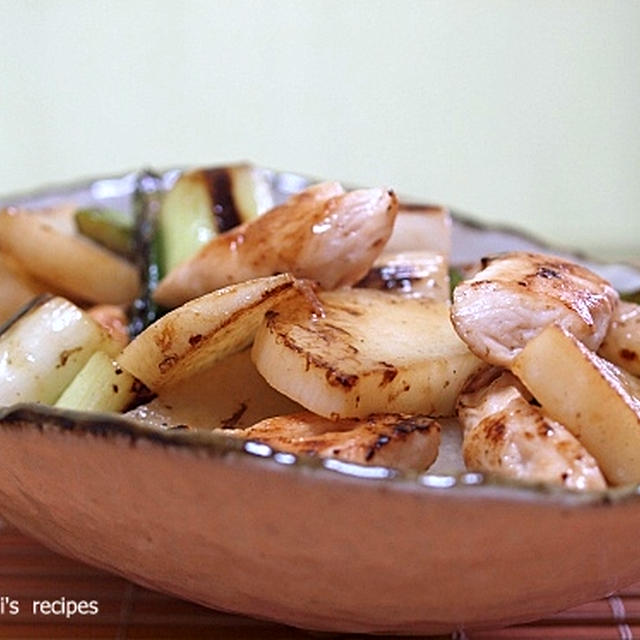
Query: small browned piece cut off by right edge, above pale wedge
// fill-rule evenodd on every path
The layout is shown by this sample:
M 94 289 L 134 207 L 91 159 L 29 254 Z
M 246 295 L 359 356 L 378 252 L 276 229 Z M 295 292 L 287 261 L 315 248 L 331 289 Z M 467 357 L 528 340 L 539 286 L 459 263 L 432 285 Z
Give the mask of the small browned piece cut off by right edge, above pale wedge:
M 598 355 L 640 376 L 640 305 L 620 301 Z

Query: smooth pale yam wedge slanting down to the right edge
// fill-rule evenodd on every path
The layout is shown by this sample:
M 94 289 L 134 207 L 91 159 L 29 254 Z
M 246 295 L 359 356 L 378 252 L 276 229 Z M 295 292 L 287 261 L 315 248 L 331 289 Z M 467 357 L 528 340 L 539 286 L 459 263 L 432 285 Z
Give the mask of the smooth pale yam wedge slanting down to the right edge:
M 544 413 L 578 438 L 609 483 L 640 482 L 640 380 L 555 325 L 527 344 L 513 372 Z

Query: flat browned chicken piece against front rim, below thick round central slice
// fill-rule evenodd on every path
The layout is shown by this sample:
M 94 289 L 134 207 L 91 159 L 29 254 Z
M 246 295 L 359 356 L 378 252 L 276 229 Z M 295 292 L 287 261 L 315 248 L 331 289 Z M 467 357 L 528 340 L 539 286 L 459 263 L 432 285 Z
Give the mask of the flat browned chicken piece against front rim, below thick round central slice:
M 333 421 L 305 411 L 267 418 L 248 429 L 216 431 L 289 453 L 417 471 L 431 466 L 440 444 L 435 420 L 397 413 Z

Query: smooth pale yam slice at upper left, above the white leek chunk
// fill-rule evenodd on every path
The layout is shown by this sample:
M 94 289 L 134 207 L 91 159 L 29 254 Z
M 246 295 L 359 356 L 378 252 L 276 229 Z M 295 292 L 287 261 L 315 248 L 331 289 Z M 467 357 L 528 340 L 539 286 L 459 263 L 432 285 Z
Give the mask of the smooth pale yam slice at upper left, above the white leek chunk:
M 80 235 L 60 231 L 55 220 L 44 215 L 0 211 L 0 251 L 74 300 L 129 304 L 140 288 L 131 263 Z

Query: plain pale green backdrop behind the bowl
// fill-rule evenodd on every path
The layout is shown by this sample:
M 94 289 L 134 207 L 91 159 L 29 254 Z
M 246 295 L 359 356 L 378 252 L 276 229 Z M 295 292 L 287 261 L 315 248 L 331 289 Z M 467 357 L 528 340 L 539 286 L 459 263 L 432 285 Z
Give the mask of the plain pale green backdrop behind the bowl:
M 0 193 L 251 159 L 640 254 L 640 2 L 0 0 Z

